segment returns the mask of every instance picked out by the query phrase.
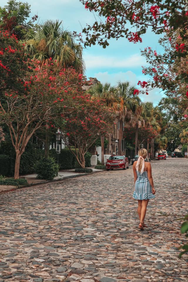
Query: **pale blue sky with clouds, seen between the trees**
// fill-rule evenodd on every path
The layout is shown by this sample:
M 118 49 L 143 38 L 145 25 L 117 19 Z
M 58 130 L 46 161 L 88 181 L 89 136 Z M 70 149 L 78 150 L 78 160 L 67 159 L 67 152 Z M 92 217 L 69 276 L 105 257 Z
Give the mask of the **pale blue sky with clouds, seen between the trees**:
M 94 14 L 86 10 L 79 0 L 23 0 L 21 2 L 28 2 L 31 5 L 31 17 L 37 14 L 39 23 L 58 19 L 62 21 L 63 29 L 71 32 L 80 33 L 86 24 L 92 24 L 95 21 Z M 6 4 L 7 0 L 0 0 L 1 7 Z M 147 66 L 147 63 L 140 55 L 140 50 L 150 46 L 159 53 L 159 38 L 158 35 L 147 32 L 142 36 L 142 43 L 134 44 L 127 38 L 120 38 L 111 39 L 110 45 L 105 49 L 97 44 L 87 47 L 83 50 L 86 77 L 88 79 L 96 77 L 101 83 L 108 82 L 111 85 L 117 85 L 119 80 L 129 81 L 132 86 L 138 88 L 139 80 L 147 80 L 147 77 L 142 74 L 142 66 Z M 154 106 L 162 97 L 164 94 L 160 89 L 150 91 L 149 95 L 140 95 L 143 102 L 153 102 Z

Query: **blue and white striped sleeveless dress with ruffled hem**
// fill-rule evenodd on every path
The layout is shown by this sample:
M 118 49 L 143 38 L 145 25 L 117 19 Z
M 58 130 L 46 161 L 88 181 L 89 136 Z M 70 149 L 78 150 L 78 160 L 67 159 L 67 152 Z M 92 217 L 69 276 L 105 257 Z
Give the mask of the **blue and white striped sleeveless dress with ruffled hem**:
M 137 180 L 135 182 L 135 191 L 132 197 L 136 200 L 155 198 L 155 195 L 152 194 L 152 187 L 147 176 L 147 171 L 144 171 L 142 174 L 139 171 L 136 171 L 136 173 Z

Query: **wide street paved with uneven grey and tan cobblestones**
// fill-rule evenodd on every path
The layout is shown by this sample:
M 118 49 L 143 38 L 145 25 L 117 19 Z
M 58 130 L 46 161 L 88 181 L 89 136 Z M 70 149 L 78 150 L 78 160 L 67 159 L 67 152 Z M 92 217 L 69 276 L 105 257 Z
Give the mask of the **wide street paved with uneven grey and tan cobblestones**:
M 151 165 L 143 231 L 132 166 L 1 193 L 0 282 L 188 281 L 188 159 Z

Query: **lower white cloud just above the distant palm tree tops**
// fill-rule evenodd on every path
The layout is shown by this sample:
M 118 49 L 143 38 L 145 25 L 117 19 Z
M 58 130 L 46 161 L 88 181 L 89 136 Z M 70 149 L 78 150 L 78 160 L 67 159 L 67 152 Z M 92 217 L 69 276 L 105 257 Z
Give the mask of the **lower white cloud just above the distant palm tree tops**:
M 101 83 L 109 82 L 111 85 L 117 85 L 119 80 L 122 82 L 129 81 L 130 85 L 135 86 L 135 88 L 138 88 L 137 83 L 139 80 L 144 80 L 143 76 L 137 76 L 132 71 L 117 73 L 99 72 L 94 73 L 93 77 L 96 77 Z M 145 78 L 145 80 L 147 79 Z M 154 106 L 157 106 L 162 97 L 164 97 L 164 94 L 159 88 L 149 91 L 149 95 L 140 94 L 142 102 L 152 102 Z

